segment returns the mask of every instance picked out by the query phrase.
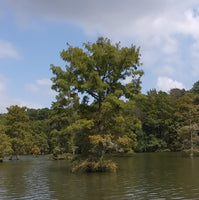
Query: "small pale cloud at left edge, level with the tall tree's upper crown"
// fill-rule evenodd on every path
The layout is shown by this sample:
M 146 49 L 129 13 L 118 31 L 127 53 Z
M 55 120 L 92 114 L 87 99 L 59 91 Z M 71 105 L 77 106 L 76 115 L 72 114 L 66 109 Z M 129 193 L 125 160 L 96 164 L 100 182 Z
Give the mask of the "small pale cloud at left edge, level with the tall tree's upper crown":
M 12 43 L 0 40 L 0 59 L 2 58 L 19 58 L 19 54 Z

